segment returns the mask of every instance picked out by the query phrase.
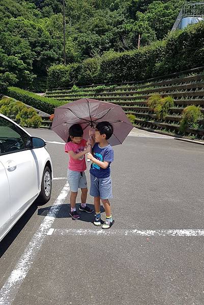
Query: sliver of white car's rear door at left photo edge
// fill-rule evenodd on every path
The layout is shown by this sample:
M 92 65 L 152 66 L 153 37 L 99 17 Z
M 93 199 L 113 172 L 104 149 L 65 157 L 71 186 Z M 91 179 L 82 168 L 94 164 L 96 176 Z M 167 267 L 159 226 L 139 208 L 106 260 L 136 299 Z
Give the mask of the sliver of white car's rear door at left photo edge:
M 0 145 L 1 154 L 1 145 Z M 0 240 L 11 224 L 10 215 L 10 190 L 6 169 L 1 162 L 0 155 Z

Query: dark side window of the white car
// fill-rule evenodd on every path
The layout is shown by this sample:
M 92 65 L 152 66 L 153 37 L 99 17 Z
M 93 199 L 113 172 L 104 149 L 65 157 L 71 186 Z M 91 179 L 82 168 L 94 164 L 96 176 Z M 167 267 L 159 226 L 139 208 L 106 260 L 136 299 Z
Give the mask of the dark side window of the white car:
M 25 143 L 27 141 L 25 138 L 26 134 L 23 133 L 22 138 L 21 132 L 15 124 L 4 117 L 0 117 L 0 155 L 26 149 Z

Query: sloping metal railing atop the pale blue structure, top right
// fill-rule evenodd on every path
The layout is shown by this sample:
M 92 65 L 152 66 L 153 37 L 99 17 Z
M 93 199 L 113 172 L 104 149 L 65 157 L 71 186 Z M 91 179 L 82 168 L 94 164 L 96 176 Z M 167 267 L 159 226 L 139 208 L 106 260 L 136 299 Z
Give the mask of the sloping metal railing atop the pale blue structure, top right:
M 176 31 L 181 20 L 185 17 L 204 17 L 204 3 L 186 3 L 183 5 L 177 20 L 173 24 L 171 31 Z

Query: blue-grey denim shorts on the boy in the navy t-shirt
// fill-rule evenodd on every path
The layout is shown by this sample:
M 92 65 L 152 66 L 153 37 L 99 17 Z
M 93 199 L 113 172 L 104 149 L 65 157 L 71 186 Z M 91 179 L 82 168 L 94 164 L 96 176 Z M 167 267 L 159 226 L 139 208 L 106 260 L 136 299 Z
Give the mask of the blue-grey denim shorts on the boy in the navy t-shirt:
M 97 178 L 90 174 L 91 187 L 90 195 L 93 197 L 100 197 L 101 199 L 112 198 L 112 181 L 111 177 Z

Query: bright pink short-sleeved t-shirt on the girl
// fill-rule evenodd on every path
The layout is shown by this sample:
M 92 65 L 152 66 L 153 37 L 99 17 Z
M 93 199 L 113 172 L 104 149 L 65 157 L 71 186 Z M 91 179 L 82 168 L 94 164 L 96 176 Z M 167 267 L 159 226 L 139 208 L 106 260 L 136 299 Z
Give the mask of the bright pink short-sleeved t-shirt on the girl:
M 74 154 L 78 154 L 84 150 L 86 146 L 86 141 L 82 139 L 80 144 L 75 144 L 73 142 L 68 142 L 65 144 L 65 152 L 68 153 L 70 150 L 74 151 Z M 86 170 L 85 155 L 75 160 L 69 156 L 69 165 L 68 168 L 75 171 L 84 171 Z

